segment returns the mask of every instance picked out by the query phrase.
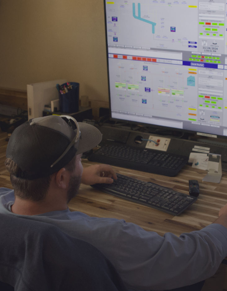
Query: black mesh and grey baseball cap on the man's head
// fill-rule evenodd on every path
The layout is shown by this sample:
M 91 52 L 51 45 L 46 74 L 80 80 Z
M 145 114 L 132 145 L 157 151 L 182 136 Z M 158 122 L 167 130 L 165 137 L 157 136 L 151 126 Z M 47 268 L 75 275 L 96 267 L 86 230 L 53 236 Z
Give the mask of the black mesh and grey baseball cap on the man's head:
M 13 131 L 6 157 L 20 167 L 18 178 L 33 180 L 59 171 L 75 155 L 91 150 L 101 140 L 96 127 L 71 116 L 33 118 Z

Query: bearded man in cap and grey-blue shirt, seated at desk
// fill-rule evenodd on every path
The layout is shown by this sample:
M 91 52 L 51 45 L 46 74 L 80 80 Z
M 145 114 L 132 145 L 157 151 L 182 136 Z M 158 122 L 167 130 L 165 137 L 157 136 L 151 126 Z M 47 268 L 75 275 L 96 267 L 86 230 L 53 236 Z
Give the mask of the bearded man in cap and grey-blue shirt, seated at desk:
M 117 178 L 108 165 L 82 169 L 82 153 L 98 145 L 101 137 L 96 127 L 66 116 L 34 118 L 17 127 L 5 162 L 14 190 L 0 188 L 0 213 L 57 225 L 93 244 L 128 289 L 167 290 L 211 277 L 227 255 L 227 206 L 214 224 L 180 237 L 162 237 L 123 219 L 68 209 L 80 182 L 112 183 L 111 177 Z M 190 290 L 199 289 L 194 285 Z

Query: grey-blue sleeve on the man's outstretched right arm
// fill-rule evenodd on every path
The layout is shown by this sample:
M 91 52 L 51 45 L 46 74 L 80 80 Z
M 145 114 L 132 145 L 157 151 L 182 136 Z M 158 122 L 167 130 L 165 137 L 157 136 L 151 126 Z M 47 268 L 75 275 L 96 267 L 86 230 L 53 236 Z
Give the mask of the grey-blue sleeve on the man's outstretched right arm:
M 124 223 L 119 238 L 118 272 L 132 289 L 173 289 L 215 274 L 227 255 L 227 229 L 220 224 L 163 237 Z

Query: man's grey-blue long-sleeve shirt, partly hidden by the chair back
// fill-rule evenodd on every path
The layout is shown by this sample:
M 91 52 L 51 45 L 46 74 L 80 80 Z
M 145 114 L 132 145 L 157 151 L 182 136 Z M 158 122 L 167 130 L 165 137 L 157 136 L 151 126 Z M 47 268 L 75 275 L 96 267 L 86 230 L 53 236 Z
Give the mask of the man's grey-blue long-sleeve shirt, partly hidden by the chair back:
M 0 188 L 0 213 L 10 211 L 14 191 Z M 57 225 L 65 233 L 97 247 L 112 262 L 129 289 L 162 290 L 211 277 L 227 255 L 227 229 L 220 224 L 163 237 L 123 219 L 90 217 L 69 209 L 19 215 Z

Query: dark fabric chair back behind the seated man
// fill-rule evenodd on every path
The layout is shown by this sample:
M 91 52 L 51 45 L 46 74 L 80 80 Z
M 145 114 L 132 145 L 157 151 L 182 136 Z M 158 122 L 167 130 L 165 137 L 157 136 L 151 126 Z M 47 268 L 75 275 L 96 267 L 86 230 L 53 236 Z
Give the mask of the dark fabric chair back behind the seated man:
M 126 291 L 96 247 L 54 225 L 0 214 L 0 237 L 2 291 Z

